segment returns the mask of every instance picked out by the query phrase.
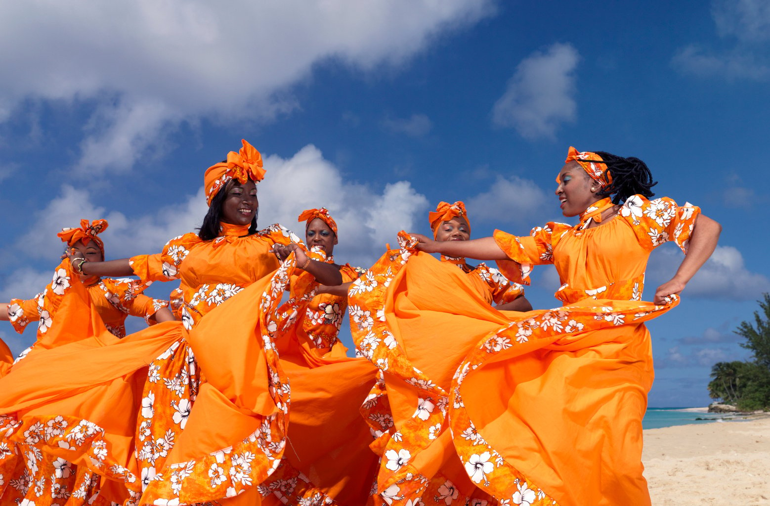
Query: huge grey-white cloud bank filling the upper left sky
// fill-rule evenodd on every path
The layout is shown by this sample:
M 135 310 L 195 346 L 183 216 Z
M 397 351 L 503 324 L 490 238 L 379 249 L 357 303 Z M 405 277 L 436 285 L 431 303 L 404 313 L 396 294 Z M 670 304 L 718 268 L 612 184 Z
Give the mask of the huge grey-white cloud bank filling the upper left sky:
M 319 62 L 399 65 L 493 13 L 493 0 L 2 2 L 0 120 L 30 99 L 90 106 L 79 168 L 126 169 L 181 122 L 296 108 L 287 90 Z

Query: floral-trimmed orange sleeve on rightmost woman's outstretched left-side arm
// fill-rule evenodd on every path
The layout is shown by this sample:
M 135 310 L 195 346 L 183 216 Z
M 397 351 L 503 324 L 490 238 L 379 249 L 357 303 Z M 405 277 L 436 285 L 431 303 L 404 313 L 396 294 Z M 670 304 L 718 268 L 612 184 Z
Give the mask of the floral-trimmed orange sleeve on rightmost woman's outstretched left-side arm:
M 497 260 L 497 266 L 508 280 L 528 285 L 532 266 L 554 263 L 554 246 L 571 228 L 566 223 L 549 222 L 532 229 L 529 236 L 514 236 L 495 230 L 495 243 L 510 259 Z

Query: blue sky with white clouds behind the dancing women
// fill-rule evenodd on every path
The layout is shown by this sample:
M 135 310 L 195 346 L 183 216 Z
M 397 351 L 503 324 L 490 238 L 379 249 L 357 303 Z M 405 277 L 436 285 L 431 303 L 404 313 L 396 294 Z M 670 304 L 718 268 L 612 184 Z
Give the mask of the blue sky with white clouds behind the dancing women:
M 651 406 L 707 404 L 711 364 L 748 357 L 732 330 L 770 291 L 766 2 L 27 1 L 0 20 L 3 300 L 45 286 L 81 217 L 109 219 L 112 257 L 199 226 L 203 170 L 242 138 L 266 159 L 260 223 L 327 206 L 336 259 L 361 266 L 440 200 L 467 203 L 474 236 L 564 221 L 575 146 L 644 159 L 658 196 L 724 227 L 649 325 Z M 680 260 L 653 254 L 647 299 Z M 557 284 L 536 270 L 527 297 L 554 307 Z

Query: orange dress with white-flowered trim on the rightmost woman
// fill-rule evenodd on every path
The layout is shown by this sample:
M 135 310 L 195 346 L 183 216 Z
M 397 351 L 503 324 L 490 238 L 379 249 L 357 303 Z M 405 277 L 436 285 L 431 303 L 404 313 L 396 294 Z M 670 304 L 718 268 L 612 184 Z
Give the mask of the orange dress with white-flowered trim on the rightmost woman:
M 496 232 L 509 279 L 527 283 L 544 263 L 561 276 L 564 306 L 527 313 L 492 310 L 401 236 L 401 250 L 370 270 L 373 290 L 350 297 L 351 313 L 378 316 L 361 318 L 353 339 L 377 341 L 367 356 L 383 383 L 371 409 L 396 421 L 377 441 L 377 501 L 650 504 L 641 419 L 653 370 L 643 322 L 678 300 L 642 302 L 644 268 L 667 240 L 686 251 L 699 213 L 632 196 L 594 228 Z

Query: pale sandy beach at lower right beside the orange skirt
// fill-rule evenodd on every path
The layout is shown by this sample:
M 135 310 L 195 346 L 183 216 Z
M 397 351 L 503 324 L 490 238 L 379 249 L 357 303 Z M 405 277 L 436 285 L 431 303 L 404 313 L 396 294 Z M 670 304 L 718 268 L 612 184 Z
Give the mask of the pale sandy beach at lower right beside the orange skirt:
M 644 431 L 655 506 L 770 506 L 770 416 Z

